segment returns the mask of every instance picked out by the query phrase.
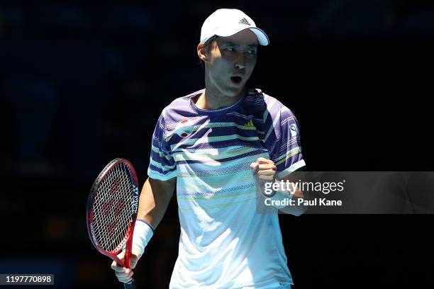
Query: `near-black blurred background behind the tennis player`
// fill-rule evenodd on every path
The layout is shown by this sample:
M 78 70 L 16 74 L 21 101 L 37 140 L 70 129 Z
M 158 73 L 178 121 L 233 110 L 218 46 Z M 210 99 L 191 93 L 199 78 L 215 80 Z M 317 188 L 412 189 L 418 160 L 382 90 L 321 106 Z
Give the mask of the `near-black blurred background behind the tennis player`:
M 306 169 L 433 170 L 433 1 L 0 1 L 0 273 L 121 288 L 87 237 L 89 188 L 116 157 L 143 184 L 162 108 L 204 87 L 200 28 L 223 7 L 269 35 L 250 83 L 295 113 Z M 433 215 L 280 220 L 296 289 L 433 286 Z M 140 288 L 167 288 L 178 238 L 174 199 Z

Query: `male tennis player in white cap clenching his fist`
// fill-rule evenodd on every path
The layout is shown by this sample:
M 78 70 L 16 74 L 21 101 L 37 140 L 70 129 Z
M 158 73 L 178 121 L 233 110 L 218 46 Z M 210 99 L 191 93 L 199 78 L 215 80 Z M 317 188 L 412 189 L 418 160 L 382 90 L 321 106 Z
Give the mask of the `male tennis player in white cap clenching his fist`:
M 175 99 L 157 121 L 131 266 L 143 256 L 176 186 L 181 235 L 169 288 L 293 284 L 277 209 L 257 212 L 261 184 L 289 179 L 305 165 L 294 114 L 260 89 L 245 87 L 258 45 L 268 44 L 264 31 L 242 11 L 212 13 L 197 46 L 205 89 Z M 114 262 L 112 268 L 121 282 L 133 278 L 130 269 Z

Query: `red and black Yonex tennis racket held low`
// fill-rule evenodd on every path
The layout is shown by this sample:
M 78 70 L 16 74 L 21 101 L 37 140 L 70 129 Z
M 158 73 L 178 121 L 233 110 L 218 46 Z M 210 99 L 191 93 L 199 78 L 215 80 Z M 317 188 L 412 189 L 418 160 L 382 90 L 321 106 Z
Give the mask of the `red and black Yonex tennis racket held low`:
M 138 177 L 126 159 L 113 159 L 99 173 L 87 201 L 87 231 L 95 248 L 119 266 L 130 268 L 138 210 Z M 117 257 L 125 248 L 125 259 Z M 135 288 L 134 280 L 124 283 Z

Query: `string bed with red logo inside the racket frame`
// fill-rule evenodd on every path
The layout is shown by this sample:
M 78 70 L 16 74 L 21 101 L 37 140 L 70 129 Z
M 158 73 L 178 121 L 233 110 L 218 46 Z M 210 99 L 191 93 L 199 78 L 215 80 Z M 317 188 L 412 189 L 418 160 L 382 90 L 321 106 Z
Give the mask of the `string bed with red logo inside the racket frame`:
M 123 249 L 132 220 L 133 183 L 128 166 L 117 164 L 99 184 L 94 200 L 94 234 L 102 249 Z

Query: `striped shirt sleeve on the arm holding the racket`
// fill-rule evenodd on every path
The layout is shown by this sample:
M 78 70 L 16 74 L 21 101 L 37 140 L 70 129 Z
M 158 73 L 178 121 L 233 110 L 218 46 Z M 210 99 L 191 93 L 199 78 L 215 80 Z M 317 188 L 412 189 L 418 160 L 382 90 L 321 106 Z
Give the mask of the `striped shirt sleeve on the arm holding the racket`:
M 158 118 L 152 135 L 148 176 L 161 181 L 167 181 L 177 176 L 177 165 L 172 157 L 172 150 L 169 143 L 165 141 L 165 119 L 163 113 Z

